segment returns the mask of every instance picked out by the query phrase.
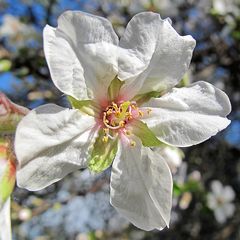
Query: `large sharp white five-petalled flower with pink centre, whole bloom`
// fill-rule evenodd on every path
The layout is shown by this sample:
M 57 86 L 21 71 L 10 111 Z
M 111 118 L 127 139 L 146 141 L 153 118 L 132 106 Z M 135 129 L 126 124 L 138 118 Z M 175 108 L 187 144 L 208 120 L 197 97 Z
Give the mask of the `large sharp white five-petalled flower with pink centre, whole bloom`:
M 168 226 L 171 173 L 148 147 L 191 146 L 230 123 L 221 90 L 205 82 L 173 88 L 194 47 L 191 36 L 178 35 L 152 12 L 134 16 L 120 41 L 108 20 L 79 11 L 63 13 L 57 28 L 46 26 L 53 82 L 75 109 L 44 105 L 18 125 L 18 185 L 39 190 L 79 168 L 100 172 L 114 160 L 111 204 L 144 230 Z

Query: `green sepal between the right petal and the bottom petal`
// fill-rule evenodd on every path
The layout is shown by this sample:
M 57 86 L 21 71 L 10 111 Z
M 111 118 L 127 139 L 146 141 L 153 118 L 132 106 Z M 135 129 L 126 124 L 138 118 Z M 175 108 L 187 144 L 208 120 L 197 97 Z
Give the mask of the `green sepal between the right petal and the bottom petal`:
M 156 147 L 160 145 L 165 145 L 158 140 L 155 134 L 148 128 L 146 123 L 143 123 L 140 120 L 134 120 L 131 123 L 131 126 L 132 133 L 141 139 L 143 146 Z

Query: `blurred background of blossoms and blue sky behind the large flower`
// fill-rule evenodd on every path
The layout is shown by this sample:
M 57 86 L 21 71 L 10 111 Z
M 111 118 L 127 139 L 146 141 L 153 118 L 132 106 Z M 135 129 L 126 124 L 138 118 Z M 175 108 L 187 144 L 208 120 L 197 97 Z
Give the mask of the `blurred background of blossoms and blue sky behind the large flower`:
M 181 35 L 197 40 L 179 86 L 204 80 L 223 89 L 232 123 L 198 146 L 157 150 L 174 178 L 169 229 L 136 229 L 109 204 L 110 172 L 84 170 L 42 191 L 15 188 L 13 239 L 240 239 L 240 1 L 0 0 L 0 91 L 13 102 L 30 109 L 49 102 L 68 106 L 51 82 L 42 47 L 43 27 L 56 26 L 65 10 L 104 16 L 119 36 L 137 12 L 170 17 Z

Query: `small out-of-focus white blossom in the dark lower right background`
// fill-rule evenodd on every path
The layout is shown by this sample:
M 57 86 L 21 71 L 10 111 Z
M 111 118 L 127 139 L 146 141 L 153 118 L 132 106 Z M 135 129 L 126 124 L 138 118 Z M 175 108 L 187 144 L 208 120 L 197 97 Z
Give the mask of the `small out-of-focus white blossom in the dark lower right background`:
M 224 223 L 234 214 L 235 205 L 232 201 L 235 198 L 235 192 L 231 186 L 223 186 L 217 180 L 211 182 L 211 190 L 212 192 L 207 195 L 208 206 L 214 211 L 216 220 Z

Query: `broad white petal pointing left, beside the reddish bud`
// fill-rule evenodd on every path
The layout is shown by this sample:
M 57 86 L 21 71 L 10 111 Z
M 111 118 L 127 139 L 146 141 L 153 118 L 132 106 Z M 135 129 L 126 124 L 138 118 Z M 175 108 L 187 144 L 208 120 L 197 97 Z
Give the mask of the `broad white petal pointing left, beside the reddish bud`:
M 94 118 L 54 104 L 31 111 L 16 131 L 18 186 L 40 190 L 86 167 L 94 124 Z

